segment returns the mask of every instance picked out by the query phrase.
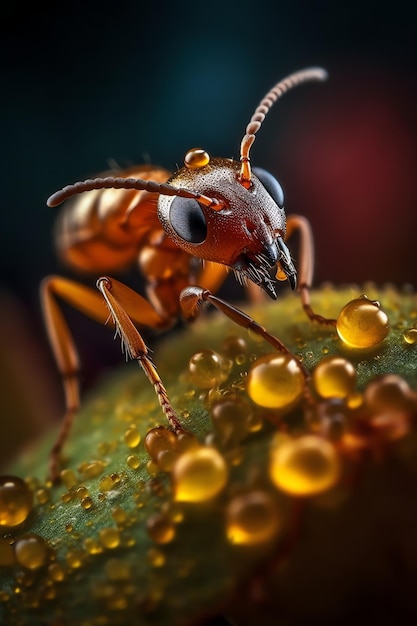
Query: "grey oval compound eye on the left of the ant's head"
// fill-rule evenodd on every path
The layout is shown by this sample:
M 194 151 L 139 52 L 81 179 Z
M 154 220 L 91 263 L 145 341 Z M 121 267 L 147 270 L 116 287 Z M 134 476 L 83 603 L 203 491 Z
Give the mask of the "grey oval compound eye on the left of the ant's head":
M 176 196 L 169 209 L 169 221 L 177 235 L 188 243 L 203 243 L 207 236 L 203 208 L 194 198 Z

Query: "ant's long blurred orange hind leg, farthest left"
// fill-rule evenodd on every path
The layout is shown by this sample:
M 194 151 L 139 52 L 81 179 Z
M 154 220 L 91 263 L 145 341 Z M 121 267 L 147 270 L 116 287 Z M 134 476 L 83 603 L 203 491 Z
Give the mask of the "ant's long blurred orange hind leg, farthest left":
M 147 300 L 126 287 L 126 309 L 139 324 L 154 328 L 166 325 Z M 62 448 L 71 430 L 74 416 L 80 406 L 80 360 L 72 334 L 57 302 L 60 298 L 95 321 L 105 324 L 109 312 L 101 294 L 76 281 L 61 276 L 49 276 L 41 283 L 41 305 L 49 343 L 55 362 L 62 376 L 65 395 L 65 414 L 57 439 L 50 453 L 49 477 L 56 483 L 59 480 Z

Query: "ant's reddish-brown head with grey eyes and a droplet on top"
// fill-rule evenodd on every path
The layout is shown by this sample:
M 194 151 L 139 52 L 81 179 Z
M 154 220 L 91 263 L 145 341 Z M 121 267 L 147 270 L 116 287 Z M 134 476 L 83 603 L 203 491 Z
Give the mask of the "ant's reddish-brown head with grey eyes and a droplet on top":
M 254 168 L 250 185 L 241 184 L 240 169 L 232 159 L 211 159 L 200 148 L 189 150 L 185 166 L 169 183 L 217 200 L 218 210 L 197 198 L 160 196 L 158 217 L 178 247 L 231 267 L 275 298 L 271 268 L 284 260 L 293 286 L 296 275 L 288 251 L 283 254 L 284 194 L 279 182 L 261 169 Z

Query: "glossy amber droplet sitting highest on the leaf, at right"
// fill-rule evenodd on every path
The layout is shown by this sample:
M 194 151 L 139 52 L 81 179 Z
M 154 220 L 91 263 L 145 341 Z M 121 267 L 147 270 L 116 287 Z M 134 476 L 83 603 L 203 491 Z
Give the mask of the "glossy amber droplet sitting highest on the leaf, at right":
M 361 297 L 343 307 L 336 330 L 340 339 L 351 348 L 373 348 L 388 335 L 389 321 L 378 302 Z

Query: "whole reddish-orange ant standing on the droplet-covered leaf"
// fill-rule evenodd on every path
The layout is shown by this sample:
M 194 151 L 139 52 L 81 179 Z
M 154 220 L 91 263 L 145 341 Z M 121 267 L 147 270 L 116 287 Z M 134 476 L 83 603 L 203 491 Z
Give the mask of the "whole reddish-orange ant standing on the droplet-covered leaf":
M 117 272 L 138 262 L 147 280 L 148 299 L 104 276 L 98 291 L 60 276 L 41 285 L 48 338 L 61 372 L 65 417 L 50 456 L 50 477 L 59 479 L 60 455 L 80 406 L 79 358 L 57 297 L 92 319 L 106 323 L 107 303 L 127 354 L 136 359 L 155 388 L 174 432 L 182 426 L 152 363 L 137 325 L 167 328 L 180 314 L 191 320 L 209 302 L 237 324 L 252 329 L 275 349 L 289 353 L 276 337 L 213 292 L 231 268 L 243 284 L 260 287 L 276 299 L 275 278 L 297 288 L 297 271 L 285 240 L 300 235 L 298 291 L 312 321 L 333 324 L 310 306 L 313 236 L 300 215 L 286 217 L 284 194 L 267 171 L 252 168 L 249 158 L 255 135 L 272 105 L 289 89 L 307 81 L 323 81 L 319 67 L 295 72 L 278 82 L 256 107 L 240 146 L 240 162 L 211 158 L 200 148 L 185 155 L 184 166 L 172 176 L 162 168 L 138 166 L 64 187 L 48 199 L 57 206 L 76 194 L 61 212 L 57 249 L 64 262 L 78 271 Z M 195 258 L 203 261 L 197 268 Z M 210 261 L 210 263 L 207 263 Z M 275 276 L 274 276 L 275 274 Z M 198 286 L 194 286 L 198 285 Z M 255 287 L 256 289 L 256 287 Z M 309 374 L 300 364 L 306 379 Z

